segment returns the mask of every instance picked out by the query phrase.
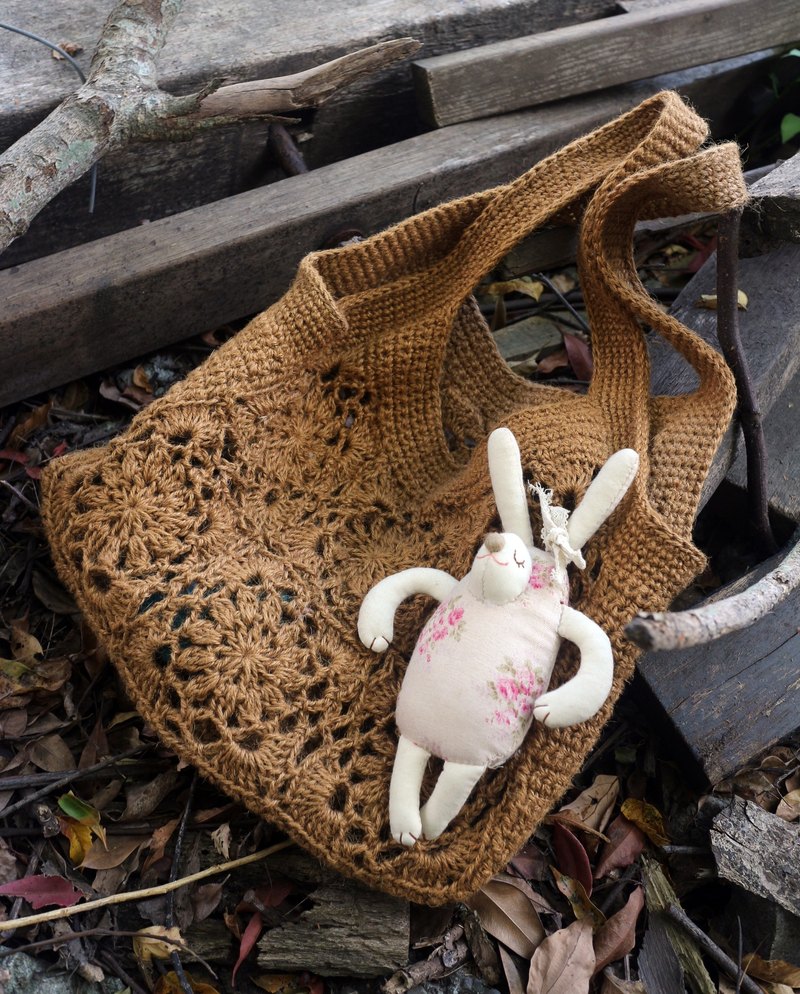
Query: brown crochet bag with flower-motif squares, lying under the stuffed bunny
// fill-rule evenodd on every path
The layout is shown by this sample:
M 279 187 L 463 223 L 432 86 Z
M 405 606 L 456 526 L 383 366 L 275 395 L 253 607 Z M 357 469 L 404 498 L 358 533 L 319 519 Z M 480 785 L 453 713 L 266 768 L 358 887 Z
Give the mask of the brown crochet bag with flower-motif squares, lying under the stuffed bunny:
M 464 574 L 495 513 L 490 429 L 513 430 L 526 477 L 559 502 L 615 450 L 641 455 L 573 578 L 573 602 L 614 645 L 612 701 L 635 661 L 624 624 L 703 565 L 690 530 L 734 387 L 643 290 L 631 240 L 640 217 L 744 202 L 737 149 L 698 153 L 705 134 L 663 93 L 507 186 L 308 256 L 274 307 L 124 436 L 43 476 L 59 573 L 142 715 L 343 873 L 430 904 L 474 892 L 567 789 L 610 713 L 536 724 L 439 839 L 391 840 L 395 697 L 431 605 L 401 608 L 381 657 L 359 642 L 358 608 L 408 566 Z M 587 199 L 595 374 L 580 396 L 511 373 L 469 294 L 523 235 Z M 642 322 L 694 366 L 693 393 L 650 395 Z M 555 682 L 572 665 L 564 653 Z

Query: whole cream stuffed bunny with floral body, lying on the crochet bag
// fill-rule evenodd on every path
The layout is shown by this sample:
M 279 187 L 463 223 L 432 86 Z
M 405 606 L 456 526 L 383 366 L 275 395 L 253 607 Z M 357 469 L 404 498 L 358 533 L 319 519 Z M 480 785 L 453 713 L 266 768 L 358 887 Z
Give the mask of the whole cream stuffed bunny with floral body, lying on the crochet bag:
M 384 652 L 402 601 L 414 594 L 439 601 L 397 700 L 389 822 L 405 846 L 437 838 L 486 769 L 519 748 L 534 719 L 549 728 L 586 721 L 611 690 L 611 644 L 595 622 L 568 606 L 567 564 L 586 565 L 580 550 L 625 496 L 637 453 L 615 452 L 571 515 L 551 505 L 550 491 L 531 488 L 542 508 L 544 549 L 534 546 L 519 447 L 508 428 L 491 433 L 488 456 L 504 530 L 484 537 L 462 580 L 438 569 L 403 570 L 367 593 L 358 616 L 361 641 Z M 562 639 L 578 646 L 580 667 L 545 693 Z M 420 810 L 431 756 L 444 766 Z

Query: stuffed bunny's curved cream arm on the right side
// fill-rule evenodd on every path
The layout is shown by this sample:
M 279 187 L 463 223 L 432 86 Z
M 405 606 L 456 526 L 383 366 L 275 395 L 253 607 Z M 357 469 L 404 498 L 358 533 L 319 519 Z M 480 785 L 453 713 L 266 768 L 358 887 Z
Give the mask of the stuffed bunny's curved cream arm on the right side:
M 558 634 L 578 646 L 581 664 L 571 680 L 536 699 L 533 716 L 548 728 L 575 725 L 597 714 L 614 679 L 611 643 L 591 618 L 565 607 Z

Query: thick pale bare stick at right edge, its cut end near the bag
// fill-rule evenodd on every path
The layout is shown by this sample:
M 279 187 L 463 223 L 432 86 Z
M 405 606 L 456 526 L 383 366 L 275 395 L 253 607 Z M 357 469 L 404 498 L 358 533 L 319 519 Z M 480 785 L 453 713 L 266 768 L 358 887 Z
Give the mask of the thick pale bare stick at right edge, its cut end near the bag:
M 771 573 L 747 590 L 689 611 L 639 614 L 625 628 L 643 649 L 684 649 L 741 631 L 763 618 L 800 586 L 800 541 Z

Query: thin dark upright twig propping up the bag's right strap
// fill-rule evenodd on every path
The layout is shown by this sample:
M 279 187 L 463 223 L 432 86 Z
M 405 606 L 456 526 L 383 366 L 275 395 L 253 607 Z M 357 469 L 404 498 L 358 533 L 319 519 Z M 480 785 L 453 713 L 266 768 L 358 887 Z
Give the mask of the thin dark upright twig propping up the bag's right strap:
M 722 354 L 736 381 L 739 421 L 747 456 L 747 499 L 750 517 L 765 556 L 778 545 L 769 523 L 767 447 L 750 367 L 739 335 L 739 227 L 741 208 L 720 218 L 717 245 L 717 334 Z

